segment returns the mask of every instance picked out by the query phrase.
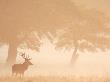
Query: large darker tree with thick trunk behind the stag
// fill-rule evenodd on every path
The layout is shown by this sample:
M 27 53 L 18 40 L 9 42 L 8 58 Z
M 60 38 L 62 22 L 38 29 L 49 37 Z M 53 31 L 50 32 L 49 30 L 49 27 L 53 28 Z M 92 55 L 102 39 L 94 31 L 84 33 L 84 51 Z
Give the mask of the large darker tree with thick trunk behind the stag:
M 73 15 L 77 18 L 76 12 L 78 9 L 68 0 L 0 0 L 0 41 L 9 45 L 7 62 L 15 62 L 21 43 L 33 44 L 30 32 L 51 38 L 56 29 L 73 21 Z

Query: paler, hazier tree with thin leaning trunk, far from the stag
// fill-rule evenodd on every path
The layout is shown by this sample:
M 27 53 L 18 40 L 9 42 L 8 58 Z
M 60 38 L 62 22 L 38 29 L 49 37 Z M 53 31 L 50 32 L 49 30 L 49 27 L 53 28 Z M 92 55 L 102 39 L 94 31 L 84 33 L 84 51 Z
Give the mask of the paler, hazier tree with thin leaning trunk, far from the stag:
M 110 48 L 109 18 L 95 10 L 81 10 L 80 14 L 79 21 L 61 30 L 56 42 L 56 48 L 74 49 L 71 63 L 78 57 L 78 50 L 94 52 Z

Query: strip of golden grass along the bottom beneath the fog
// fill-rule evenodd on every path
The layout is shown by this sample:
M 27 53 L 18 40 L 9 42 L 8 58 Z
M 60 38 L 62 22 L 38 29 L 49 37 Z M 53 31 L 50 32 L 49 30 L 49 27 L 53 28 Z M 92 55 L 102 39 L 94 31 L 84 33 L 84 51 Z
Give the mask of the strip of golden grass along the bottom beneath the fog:
M 0 82 L 110 82 L 109 77 L 99 76 L 36 76 L 36 77 L 0 77 Z

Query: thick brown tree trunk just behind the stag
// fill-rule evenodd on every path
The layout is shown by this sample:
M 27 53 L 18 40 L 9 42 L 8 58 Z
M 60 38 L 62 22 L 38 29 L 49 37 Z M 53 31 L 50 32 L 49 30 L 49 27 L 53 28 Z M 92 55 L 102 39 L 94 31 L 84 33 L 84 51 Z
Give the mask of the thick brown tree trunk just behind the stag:
M 17 56 L 17 45 L 15 43 L 9 44 L 8 49 L 8 57 L 7 57 L 7 64 L 12 65 L 16 62 Z

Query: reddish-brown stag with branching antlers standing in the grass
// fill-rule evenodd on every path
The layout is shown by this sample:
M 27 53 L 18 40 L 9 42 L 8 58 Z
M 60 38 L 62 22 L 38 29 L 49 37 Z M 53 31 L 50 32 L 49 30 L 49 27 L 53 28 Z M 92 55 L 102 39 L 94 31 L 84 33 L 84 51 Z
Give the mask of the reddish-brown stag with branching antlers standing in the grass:
M 31 58 L 29 58 L 29 55 L 26 56 L 25 53 L 23 53 L 22 55 L 22 58 L 25 59 L 24 63 L 22 64 L 14 64 L 12 66 L 12 75 L 20 75 L 23 76 L 24 75 L 24 72 L 28 69 L 29 65 L 33 65 L 30 60 Z

